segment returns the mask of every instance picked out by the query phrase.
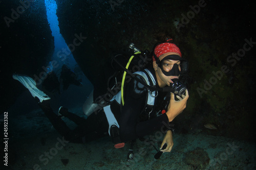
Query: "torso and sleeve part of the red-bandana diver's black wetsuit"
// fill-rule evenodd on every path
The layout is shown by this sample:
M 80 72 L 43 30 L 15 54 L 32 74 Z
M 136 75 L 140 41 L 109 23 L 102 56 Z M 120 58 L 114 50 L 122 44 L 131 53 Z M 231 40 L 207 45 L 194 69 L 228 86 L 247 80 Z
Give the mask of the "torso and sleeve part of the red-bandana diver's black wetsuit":
M 157 80 L 154 69 L 150 68 L 149 70 L 152 72 L 155 80 Z M 157 81 L 156 87 L 159 87 Z M 122 106 L 121 113 L 119 113 L 119 116 L 116 116 L 118 114 L 114 113 L 120 126 L 120 137 L 123 142 L 143 137 L 156 130 L 160 131 L 161 127 L 164 126 L 163 122 L 165 124 L 169 123 L 165 113 L 156 116 L 156 112 L 159 111 L 158 106 L 163 100 L 162 97 L 165 96 L 165 94 L 160 91 L 158 91 L 158 93 L 158 96 L 155 98 L 155 105 L 150 114 L 151 118 L 148 119 L 148 112 L 145 111 L 145 103 L 148 94 L 146 87 L 136 80 L 127 83 L 125 86 L 124 105 Z M 112 106 L 111 109 L 113 112 L 116 110 Z

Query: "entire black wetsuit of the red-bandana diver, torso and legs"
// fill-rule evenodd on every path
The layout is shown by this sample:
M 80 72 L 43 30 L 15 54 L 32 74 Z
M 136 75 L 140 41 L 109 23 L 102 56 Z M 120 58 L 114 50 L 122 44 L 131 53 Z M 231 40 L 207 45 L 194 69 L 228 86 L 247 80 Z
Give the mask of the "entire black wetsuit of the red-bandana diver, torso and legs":
M 155 71 L 152 71 L 155 80 Z M 156 81 L 157 82 L 157 81 Z M 158 84 L 156 84 L 158 87 Z M 117 102 L 111 104 L 111 110 L 113 111 L 118 124 L 120 126 L 120 137 L 123 142 L 143 137 L 156 130 L 160 130 L 164 123 L 168 124 L 168 117 L 166 114 L 156 116 L 158 111 L 158 105 L 162 102 L 161 92 L 158 92 L 158 96 L 155 98 L 155 106 L 151 112 L 151 119 L 148 119 L 148 112 L 144 112 L 145 103 L 147 98 L 146 88 L 132 79 L 125 86 L 125 99 L 124 106 L 120 107 Z M 63 122 L 63 120 L 57 116 L 50 107 L 50 100 L 43 101 L 39 104 L 46 116 L 50 119 L 53 127 L 67 140 L 72 142 L 87 142 L 99 137 L 102 137 L 108 132 L 108 120 L 103 111 L 97 114 L 91 114 L 87 119 L 79 117 L 68 111 L 61 114 L 71 119 L 77 124 L 74 130 L 70 130 L 69 127 Z

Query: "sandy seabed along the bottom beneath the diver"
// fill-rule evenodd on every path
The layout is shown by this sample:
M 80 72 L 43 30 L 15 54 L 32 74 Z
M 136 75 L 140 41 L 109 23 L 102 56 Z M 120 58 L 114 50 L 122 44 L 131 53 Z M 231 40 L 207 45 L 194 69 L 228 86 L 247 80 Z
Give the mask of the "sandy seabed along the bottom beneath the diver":
M 82 116 L 80 108 L 70 111 Z M 63 120 L 71 128 L 76 126 L 67 118 Z M 201 131 L 175 134 L 172 152 L 163 153 L 158 160 L 154 155 L 155 147 L 161 144 L 159 135 L 146 136 L 152 139 L 147 142 L 137 139 L 134 159 L 128 161 L 130 143 L 115 149 L 108 136 L 88 143 L 71 143 L 58 134 L 40 109 L 9 119 L 9 125 L 12 127 L 6 169 L 256 169 L 253 142 Z M 195 151 L 198 148 L 208 155 L 206 163 L 201 160 L 203 155 L 200 157 Z

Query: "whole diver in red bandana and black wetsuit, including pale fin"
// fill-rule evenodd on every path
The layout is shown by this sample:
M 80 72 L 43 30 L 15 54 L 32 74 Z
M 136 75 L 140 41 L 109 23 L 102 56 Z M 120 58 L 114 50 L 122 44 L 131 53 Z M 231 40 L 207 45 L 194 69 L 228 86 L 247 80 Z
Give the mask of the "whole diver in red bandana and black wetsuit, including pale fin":
M 155 45 L 152 65 L 135 72 L 135 78 L 125 83 L 123 101 L 119 91 L 108 106 L 87 119 L 60 107 L 59 114 L 77 124 L 74 130 L 70 130 L 60 116 L 53 112 L 49 96 L 36 87 L 32 78 L 13 75 L 13 79 L 29 89 L 53 127 L 66 140 L 87 142 L 102 137 L 109 131 L 115 148 L 122 148 L 125 142 L 164 129 L 166 134 L 161 148 L 165 143 L 167 147 L 162 152 L 170 152 L 174 145 L 170 122 L 185 109 L 188 91 L 175 95 L 176 91 L 166 89 L 178 81 L 180 74 L 186 71 L 186 66 L 186 61 L 181 58 L 181 52 L 174 43 L 166 41 Z M 159 106 L 166 94 L 170 94 L 167 111 L 159 114 Z

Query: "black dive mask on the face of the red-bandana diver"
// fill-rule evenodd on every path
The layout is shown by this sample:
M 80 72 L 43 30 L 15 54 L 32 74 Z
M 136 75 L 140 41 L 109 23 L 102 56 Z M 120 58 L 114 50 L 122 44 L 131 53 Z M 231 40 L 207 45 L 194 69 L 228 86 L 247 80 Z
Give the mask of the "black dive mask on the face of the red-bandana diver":
M 164 57 L 161 61 L 159 60 L 159 58 L 157 58 L 158 60 L 156 60 L 156 63 L 158 65 L 158 67 L 161 68 L 163 74 L 165 76 L 179 76 L 180 74 L 183 74 L 187 71 L 187 68 L 188 68 L 188 63 L 185 59 L 181 58 L 180 56 L 178 55 L 168 55 L 166 57 Z M 166 63 L 165 60 L 179 60 L 180 61 L 180 64 L 174 64 L 172 69 L 170 69 L 169 71 L 166 71 L 164 69 L 164 67 L 167 67 L 166 65 L 168 65 Z M 166 65 L 164 65 L 166 64 Z M 179 69 L 179 66 L 180 66 L 180 69 Z

